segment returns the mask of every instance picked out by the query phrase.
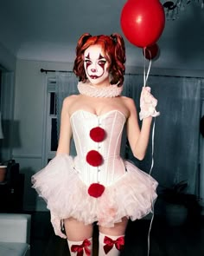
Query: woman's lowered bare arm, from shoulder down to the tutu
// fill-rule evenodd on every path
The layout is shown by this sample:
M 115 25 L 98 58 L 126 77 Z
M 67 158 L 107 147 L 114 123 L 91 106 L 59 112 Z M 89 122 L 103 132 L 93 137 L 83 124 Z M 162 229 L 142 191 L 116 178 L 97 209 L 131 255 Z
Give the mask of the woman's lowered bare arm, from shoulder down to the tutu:
M 72 128 L 70 125 L 69 106 L 73 101 L 72 96 L 64 99 L 61 109 L 61 129 L 60 139 L 56 154 L 69 154 L 70 152 L 70 141 L 72 137 Z

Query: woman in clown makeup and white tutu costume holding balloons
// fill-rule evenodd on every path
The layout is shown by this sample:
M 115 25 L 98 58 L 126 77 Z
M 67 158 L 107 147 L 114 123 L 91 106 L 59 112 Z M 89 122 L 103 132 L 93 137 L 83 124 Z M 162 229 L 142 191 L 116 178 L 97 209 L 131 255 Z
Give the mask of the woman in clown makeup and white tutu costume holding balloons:
M 67 238 L 71 255 L 92 255 L 93 222 L 99 225 L 99 256 L 119 255 L 128 220 L 150 213 L 156 200 L 157 182 L 120 157 L 125 127 L 132 153 L 143 160 L 152 116 L 159 115 L 150 88 L 143 88 L 139 128 L 135 103 L 120 95 L 124 62 L 122 36 L 80 36 L 73 66 L 80 95 L 64 100 L 57 154 L 32 179 L 48 203 L 55 234 Z M 74 159 L 69 155 L 72 136 Z

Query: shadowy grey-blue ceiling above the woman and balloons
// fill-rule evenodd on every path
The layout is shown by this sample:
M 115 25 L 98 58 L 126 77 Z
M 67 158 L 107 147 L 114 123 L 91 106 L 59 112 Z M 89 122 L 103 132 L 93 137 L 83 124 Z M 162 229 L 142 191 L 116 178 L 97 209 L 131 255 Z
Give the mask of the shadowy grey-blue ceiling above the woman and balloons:
M 124 3 L 124 0 L 0 0 L 0 43 L 20 59 L 73 62 L 81 34 L 123 35 L 120 15 Z M 127 60 L 129 56 L 129 63 L 134 65 L 141 49 L 126 39 L 125 44 Z M 204 69 L 204 9 L 190 3 L 178 19 L 167 20 L 158 45 L 160 65 L 169 62 L 169 66 L 176 67 L 179 63 L 186 68 L 188 62 L 193 68 Z

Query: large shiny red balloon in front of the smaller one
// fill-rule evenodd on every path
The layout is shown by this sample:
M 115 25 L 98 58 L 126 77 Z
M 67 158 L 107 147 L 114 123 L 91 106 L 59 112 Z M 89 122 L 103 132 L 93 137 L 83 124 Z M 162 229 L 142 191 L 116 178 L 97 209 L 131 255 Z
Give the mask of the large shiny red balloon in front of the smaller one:
M 124 36 L 137 47 L 156 43 L 165 25 L 165 13 L 159 0 L 128 0 L 120 17 Z

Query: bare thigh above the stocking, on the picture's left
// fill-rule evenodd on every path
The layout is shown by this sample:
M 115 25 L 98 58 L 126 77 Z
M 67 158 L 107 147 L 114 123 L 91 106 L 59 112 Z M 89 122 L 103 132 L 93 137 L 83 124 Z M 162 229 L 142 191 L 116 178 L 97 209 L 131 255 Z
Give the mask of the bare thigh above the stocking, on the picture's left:
M 70 241 L 83 241 L 92 237 L 92 225 L 68 218 L 64 220 L 67 239 Z

